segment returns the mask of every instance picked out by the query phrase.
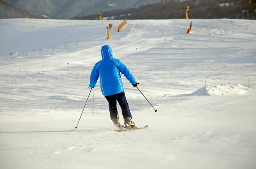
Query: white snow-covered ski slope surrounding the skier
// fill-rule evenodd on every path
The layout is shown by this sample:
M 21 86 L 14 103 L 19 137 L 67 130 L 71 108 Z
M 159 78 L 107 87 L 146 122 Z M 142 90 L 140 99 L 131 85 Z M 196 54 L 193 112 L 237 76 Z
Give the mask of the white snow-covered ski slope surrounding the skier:
M 121 22 L 0 20 L 0 168 L 255 169 L 256 21 Z M 145 130 L 114 131 L 99 82 L 75 130 L 106 44 Z

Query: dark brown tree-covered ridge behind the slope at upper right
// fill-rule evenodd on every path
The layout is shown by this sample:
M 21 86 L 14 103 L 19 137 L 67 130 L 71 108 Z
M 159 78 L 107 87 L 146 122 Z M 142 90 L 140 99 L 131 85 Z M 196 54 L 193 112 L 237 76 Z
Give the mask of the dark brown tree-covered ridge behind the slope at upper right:
M 102 17 L 111 19 L 172 19 L 185 18 L 186 6 L 189 6 L 189 18 L 197 19 L 256 19 L 256 0 L 169 0 L 148 4 L 139 8 L 116 9 L 102 12 Z M 99 14 L 91 14 L 71 19 L 97 20 Z

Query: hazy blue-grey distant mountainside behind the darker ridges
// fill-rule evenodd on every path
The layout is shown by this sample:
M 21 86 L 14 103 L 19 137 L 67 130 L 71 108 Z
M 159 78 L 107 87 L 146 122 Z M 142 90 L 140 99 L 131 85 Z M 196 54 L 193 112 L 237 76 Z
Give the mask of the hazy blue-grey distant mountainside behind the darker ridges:
M 6 0 L 15 7 L 56 18 L 70 18 L 113 9 L 137 8 L 161 0 Z

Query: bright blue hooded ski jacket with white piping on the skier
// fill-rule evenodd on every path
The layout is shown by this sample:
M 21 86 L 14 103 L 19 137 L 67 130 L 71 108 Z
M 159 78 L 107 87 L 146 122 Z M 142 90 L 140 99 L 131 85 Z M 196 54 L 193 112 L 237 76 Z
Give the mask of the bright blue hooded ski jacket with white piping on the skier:
M 95 87 L 99 79 L 103 96 L 110 96 L 124 91 L 120 72 L 125 75 L 131 84 L 136 84 L 136 79 L 130 70 L 119 59 L 113 58 L 109 45 L 101 48 L 102 60 L 97 62 L 90 75 L 90 87 Z

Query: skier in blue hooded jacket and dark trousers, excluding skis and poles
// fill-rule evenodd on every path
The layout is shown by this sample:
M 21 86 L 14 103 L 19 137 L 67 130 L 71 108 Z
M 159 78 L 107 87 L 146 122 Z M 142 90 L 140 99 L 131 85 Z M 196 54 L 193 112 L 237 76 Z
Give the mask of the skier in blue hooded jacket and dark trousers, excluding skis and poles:
M 94 65 L 91 72 L 89 87 L 94 88 L 99 78 L 102 94 L 108 100 L 110 118 L 113 121 L 113 124 L 116 127 L 121 126 L 116 108 L 116 101 L 118 101 L 122 109 L 125 127 L 134 128 L 136 126 L 134 122 L 131 121 L 132 116 L 125 97 L 120 72 L 134 87 L 136 87 L 138 83 L 125 64 L 119 59 L 113 58 L 113 52 L 109 45 L 102 46 L 101 55 L 102 60 Z

